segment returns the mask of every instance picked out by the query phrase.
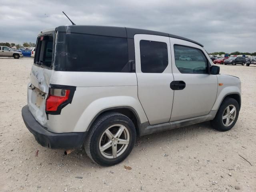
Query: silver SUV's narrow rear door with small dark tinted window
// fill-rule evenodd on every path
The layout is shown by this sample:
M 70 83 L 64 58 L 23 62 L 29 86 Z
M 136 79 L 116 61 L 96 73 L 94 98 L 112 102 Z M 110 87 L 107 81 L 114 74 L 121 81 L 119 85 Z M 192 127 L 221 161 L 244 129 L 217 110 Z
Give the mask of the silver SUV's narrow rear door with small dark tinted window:
M 169 122 L 174 91 L 168 37 L 134 35 L 138 99 L 150 125 Z

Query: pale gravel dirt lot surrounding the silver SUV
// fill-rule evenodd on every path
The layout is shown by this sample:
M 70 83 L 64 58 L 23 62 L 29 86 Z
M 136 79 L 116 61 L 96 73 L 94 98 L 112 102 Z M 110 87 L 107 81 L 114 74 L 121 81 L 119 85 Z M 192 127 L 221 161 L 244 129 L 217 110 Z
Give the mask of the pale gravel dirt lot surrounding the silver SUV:
M 220 66 L 242 81 L 232 130 L 218 132 L 205 122 L 144 136 L 112 167 L 92 163 L 84 150 L 64 156 L 36 142 L 21 117 L 31 65 L 31 58 L 0 58 L 1 192 L 256 191 L 256 65 Z

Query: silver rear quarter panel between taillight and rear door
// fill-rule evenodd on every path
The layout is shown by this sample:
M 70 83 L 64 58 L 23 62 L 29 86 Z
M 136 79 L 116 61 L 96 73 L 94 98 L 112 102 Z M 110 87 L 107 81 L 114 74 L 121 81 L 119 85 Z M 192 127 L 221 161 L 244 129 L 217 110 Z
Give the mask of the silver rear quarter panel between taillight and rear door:
M 141 123 L 148 121 L 138 100 L 135 73 L 54 71 L 50 84 L 76 86 L 72 103 L 60 115 L 48 115 L 45 126 L 51 132 L 85 132 L 99 112 L 120 106 L 133 108 Z

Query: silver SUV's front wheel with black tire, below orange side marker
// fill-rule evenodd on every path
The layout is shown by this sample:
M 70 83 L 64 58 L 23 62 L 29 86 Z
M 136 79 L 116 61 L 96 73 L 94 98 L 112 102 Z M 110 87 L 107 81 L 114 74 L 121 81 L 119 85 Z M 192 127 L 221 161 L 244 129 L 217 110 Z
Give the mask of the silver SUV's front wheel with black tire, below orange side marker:
M 235 108 L 235 111 L 231 115 L 234 118 L 234 120 L 228 117 L 228 114 L 227 114 L 228 106 L 229 106 L 229 109 L 231 109 L 230 112 L 232 112 L 233 107 Z M 235 99 L 229 98 L 229 97 L 226 98 L 220 105 L 220 108 L 214 120 L 211 121 L 212 127 L 218 131 L 230 130 L 236 124 L 236 121 L 239 115 L 239 110 L 240 110 L 239 104 Z M 223 119 L 223 117 L 226 117 L 226 116 L 227 118 Z M 228 123 L 227 123 L 227 120 L 228 120 Z

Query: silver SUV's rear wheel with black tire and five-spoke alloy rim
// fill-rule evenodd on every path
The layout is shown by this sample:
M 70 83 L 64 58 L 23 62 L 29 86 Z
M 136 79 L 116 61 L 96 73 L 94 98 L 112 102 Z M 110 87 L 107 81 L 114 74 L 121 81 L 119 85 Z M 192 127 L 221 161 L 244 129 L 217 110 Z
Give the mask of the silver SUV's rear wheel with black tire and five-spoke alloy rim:
M 116 125 L 116 126 L 114 126 Z M 124 126 L 122 134 L 118 137 L 118 131 Z M 114 139 L 109 137 L 111 134 Z M 111 136 L 111 137 L 112 137 Z M 121 139 L 120 139 L 121 138 Z M 119 140 L 119 141 L 118 141 Z M 128 144 L 120 144 L 119 142 L 127 142 Z M 96 164 L 101 166 L 113 166 L 122 162 L 132 151 L 136 140 L 136 129 L 133 122 L 125 115 L 117 112 L 106 112 L 100 115 L 93 123 L 85 140 L 85 150 L 88 156 Z M 118 144 L 119 143 L 119 144 Z M 108 148 L 100 147 L 108 144 Z M 116 146 L 117 152 L 114 157 L 113 149 Z M 119 153 L 119 154 L 118 154 Z

